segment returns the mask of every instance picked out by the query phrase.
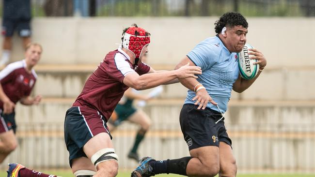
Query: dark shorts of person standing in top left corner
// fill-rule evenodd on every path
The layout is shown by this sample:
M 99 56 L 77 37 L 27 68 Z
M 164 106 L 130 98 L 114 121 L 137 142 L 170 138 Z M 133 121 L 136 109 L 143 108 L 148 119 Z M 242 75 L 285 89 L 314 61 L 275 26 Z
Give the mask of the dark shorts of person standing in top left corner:
M 11 37 L 14 31 L 18 31 L 18 35 L 21 37 L 31 36 L 31 20 L 24 19 L 3 19 L 2 21 L 2 35 Z

